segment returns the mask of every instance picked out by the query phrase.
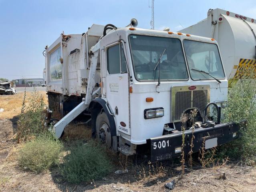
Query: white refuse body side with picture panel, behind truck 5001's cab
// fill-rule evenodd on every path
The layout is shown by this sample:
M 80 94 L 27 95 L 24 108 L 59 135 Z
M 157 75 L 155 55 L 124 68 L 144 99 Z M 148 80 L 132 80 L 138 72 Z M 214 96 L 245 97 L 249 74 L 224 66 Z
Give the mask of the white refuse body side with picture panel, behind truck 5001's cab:
M 86 94 L 90 59 L 88 52 L 99 40 L 101 25 L 93 25 L 86 34 L 61 34 L 47 49 L 46 91 L 67 96 Z M 62 62 L 62 63 L 61 63 Z M 97 68 L 100 68 L 98 64 Z M 97 71 L 97 78 L 100 72 Z

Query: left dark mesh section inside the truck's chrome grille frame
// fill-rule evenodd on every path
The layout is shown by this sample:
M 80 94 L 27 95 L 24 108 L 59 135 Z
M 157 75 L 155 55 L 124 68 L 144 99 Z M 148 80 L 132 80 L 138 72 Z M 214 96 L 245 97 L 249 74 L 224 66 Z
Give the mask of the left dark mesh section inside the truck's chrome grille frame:
M 191 107 L 191 91 L 177 92 L 175 95 L 175 120 L 180 120 L 184 109 Z

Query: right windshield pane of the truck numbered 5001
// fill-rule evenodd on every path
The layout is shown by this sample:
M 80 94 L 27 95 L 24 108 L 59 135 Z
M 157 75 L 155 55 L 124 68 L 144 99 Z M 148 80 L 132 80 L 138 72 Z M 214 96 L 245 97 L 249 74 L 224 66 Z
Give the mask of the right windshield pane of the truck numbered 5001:
M 196 70 L 205 71 L 217 79 L 225 78 L 216 44 L 184 40 L 184 48 L 189 72 L 193 80 L 213 79 L 208 74 Z

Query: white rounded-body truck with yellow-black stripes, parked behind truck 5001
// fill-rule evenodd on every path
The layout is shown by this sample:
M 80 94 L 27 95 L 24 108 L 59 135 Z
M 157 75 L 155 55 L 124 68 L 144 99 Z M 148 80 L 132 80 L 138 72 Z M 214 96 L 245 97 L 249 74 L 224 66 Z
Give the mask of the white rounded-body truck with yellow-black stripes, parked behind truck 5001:
M 220 47 L 228 79 L 256 72 L 256 20 L 222 9 L 209 9 L 207 18 L 179 32 L 214 38 Z M 211 66 L 202 69 L 212 70 Z

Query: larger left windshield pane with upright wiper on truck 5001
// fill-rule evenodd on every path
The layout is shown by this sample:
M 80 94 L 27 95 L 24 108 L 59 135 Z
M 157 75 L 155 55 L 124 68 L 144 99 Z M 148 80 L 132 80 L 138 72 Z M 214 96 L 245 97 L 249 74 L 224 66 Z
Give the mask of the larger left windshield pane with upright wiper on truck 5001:
M 161 80 L 188 79 L 179 39 L 132 34 L 129 41 L 137 80 L 158 80 L 159 69 Z

